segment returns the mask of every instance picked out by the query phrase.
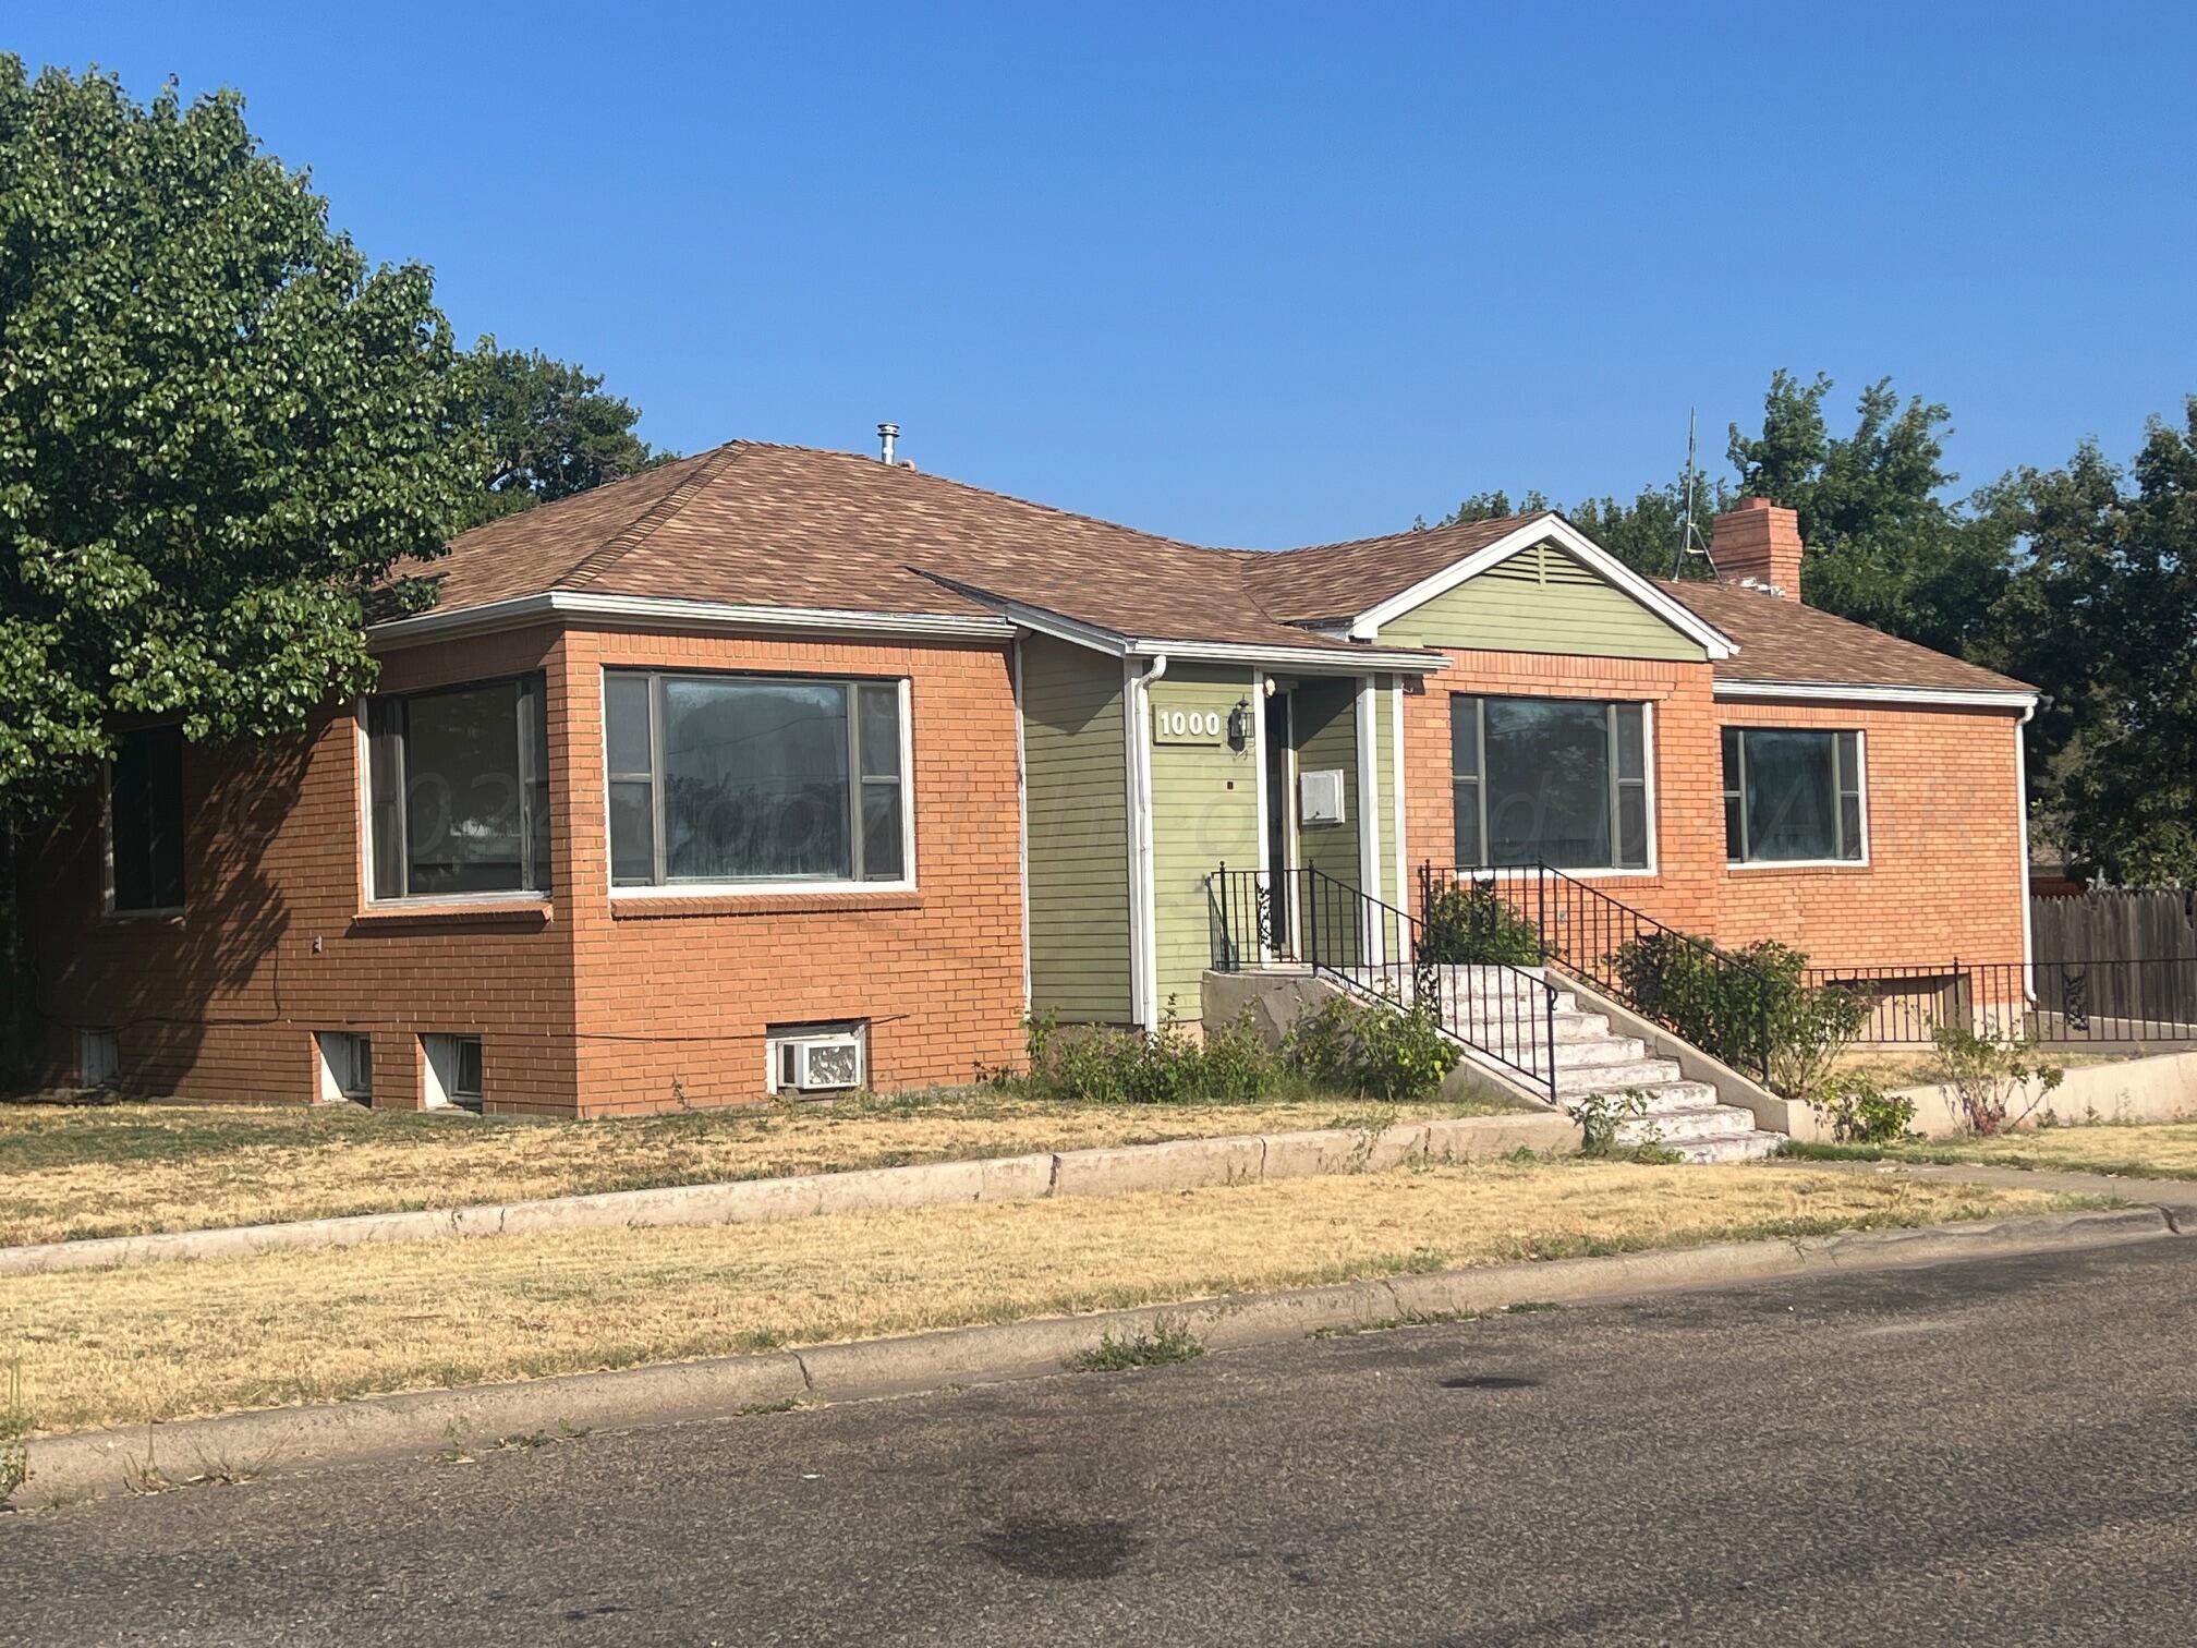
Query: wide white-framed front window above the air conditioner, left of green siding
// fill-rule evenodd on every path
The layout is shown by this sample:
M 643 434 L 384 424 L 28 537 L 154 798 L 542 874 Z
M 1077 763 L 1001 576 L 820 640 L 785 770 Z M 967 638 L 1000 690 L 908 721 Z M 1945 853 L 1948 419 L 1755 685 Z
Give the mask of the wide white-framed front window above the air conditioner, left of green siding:
M 606 670 L 611 883 L 912 881 L 901 681 Z

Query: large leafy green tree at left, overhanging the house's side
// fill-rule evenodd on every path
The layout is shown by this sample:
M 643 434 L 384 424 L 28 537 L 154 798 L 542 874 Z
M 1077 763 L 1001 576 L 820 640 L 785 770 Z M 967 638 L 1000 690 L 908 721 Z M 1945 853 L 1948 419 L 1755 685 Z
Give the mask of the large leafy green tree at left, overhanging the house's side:
M 365 686 L 363 591 L 483 459 L 428 270 L 369 268 L 233 92 L 0 57 L 0 811 L 114 716 L 257 738 Z

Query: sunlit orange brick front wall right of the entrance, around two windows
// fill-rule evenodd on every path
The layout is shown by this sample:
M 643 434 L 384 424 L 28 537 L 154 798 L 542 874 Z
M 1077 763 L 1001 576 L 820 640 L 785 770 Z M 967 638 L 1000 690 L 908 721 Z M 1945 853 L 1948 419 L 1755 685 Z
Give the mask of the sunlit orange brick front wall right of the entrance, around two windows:
M 1646 699 L 1654 705 L 1654 875 L 1599 875 L 1613 899 L 1722 943 L 1782 938 L 1819 967 L 2021 958 L 2021 800 L 2006 710 L 1718 703 L 1707 664 L 1452 650 L 1404 699 L 1408 844 L 1446 864 L 1450 694 Z M 1722 725 L 1859 727 L 1870 861 L 1725 864 Z

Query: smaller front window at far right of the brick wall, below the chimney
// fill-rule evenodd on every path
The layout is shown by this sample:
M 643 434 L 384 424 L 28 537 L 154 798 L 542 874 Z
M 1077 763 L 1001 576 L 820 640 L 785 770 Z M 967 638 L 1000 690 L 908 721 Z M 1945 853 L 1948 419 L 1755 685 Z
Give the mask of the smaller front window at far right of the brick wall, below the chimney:
M 1725 857 L 1731 864 L 1859 864 L 1861 734 L 1725 727 Z

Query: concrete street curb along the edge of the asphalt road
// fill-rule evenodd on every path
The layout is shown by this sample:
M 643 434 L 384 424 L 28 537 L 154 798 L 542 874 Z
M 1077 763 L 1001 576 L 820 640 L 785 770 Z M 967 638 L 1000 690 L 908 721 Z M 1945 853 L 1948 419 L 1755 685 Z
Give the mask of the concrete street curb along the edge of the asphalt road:
M 1810 1272 L 1995 1259 L 2171 1235 L 2160 1209 L 2043 1213 L 2017 1220 L 1856 1231 L 1795 1241 L 1722 1241 L 1613 1259 L 1544 1259 L 1430 1277 L 1384 1277 L 1336 1288 L 1142 1305 L 997 1327 L 817 1345 L 617 1373 L 573 1373 L 523 1384 L 417 1391 L 321 1408 L 270 1408 L 132 1430 L 37 1437 L 20 1507 L 66 1505 L 193 1479 L 233 1481 L 301 1466 L 356 1463 L 437 1446 L 492 1446 L 501 1437 L 591 1430 L 773 1408 L 804 1398 L 852 1402 L 962 1384 L 1059 1373 L 1107 1334 L 1189 1329 L 1208 1349 L 1303 1338 L 1408 1316 L 1485 1312 L 1527 1301 L 1588 1303 L 1626 1294 L 1711 1288 Z

